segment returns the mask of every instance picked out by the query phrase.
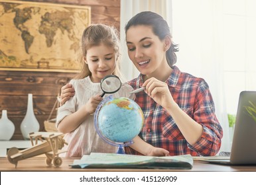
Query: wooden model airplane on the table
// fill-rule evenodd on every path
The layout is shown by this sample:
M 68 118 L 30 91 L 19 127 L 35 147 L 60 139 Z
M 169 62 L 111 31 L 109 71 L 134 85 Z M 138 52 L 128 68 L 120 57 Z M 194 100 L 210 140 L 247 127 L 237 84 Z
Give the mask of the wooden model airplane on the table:
M 63 133 L 58 132 L 33 132 L 29 134 L 31 139 L 32 147 L 19 151 L 17 147 L 12 147 L 7 153 L 7 157 L 10 163 L 17 167 L 18 161 L 28 159 L 36 155 L 46 155 L 46 165 L 53 165 L 58 167 L 62 165 L 62 159 L 58 157 L 60 153 L 66 151 L 61 150 L 64 144 L 68 144 L 62 138 Z M 38 140 L 40 142 L 38 142 Z

